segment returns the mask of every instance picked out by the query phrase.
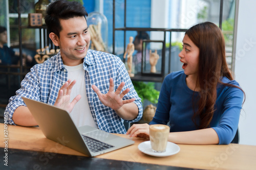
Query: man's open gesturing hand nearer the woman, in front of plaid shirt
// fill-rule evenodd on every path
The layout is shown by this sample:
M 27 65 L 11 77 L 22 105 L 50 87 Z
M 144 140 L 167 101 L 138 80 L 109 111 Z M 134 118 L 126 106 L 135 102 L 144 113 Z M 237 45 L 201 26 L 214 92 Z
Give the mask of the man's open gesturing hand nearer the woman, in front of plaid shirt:
M 99 100 L 101 103 L 105 106 L 111 107 L 113 110 L 118 111 L 124 104 L 132 103 L 135 101 L 135 99 L 129 99 L 129 100 L 122 100 L 123 96 L 127 94 L 130 89 L 126 88 L 123 92 L 121 92 L 124 82 L 122 82 L 116 91 L 114 91 L 114 81 L 112 78 L 110 78 L 110 89 L 108 93 L 102 94 L 98 87 L 95 85 L 92 85 L 93 90 L 97 93 Z M 121 92 L 121 93 L 120 93 Z

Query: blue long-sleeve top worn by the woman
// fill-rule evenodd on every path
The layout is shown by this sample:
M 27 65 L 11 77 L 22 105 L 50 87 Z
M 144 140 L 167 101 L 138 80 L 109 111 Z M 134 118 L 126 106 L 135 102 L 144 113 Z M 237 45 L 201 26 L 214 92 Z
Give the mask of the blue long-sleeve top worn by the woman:
M 236 81 L 230 81 L 226 77 L 222 78 L 222 82 L 239 87 Z M 236 134 L 243 97 L 243 92 L 239 88 L 218 85 L 216 110 L 210 127 L 217 132 L 219 144 L 229 144 Z M 156 113 L 150 124 L 167 125 L 169 122 L 170 132 L 197 130 L 193 115 L 194 110 L 198 109 L 196 104 L 199 98 L 199 92 L 187 87 L 184 71 L 172 72 L 163 81 Z M 196 123 L 200 124 L 199 117 L 196 117 Z

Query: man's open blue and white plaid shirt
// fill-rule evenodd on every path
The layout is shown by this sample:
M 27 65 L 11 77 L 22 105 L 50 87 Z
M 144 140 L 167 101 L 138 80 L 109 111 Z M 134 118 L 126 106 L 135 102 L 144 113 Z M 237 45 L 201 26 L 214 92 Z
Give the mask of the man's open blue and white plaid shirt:
M 134 103 L 139 109 L 139 114 L 134 120 L 126 121 L 138 122 L 142 117 L 142 103 L 123 62 L 112 54 L 88 50 L 83 60 L 83 69 L 85 70 L 87 98 L 95 124 L 106 132 L 126 133 L 123 119 L 113 109 L 104 106 L 92 89 L 94 84 L 104 94 L 109 91 L 110 78 L 114 80 L 114 90 L 121 82 L 125 82 L 123 90 L 129 87 L 130 92 L 123 97 L 123 100 L 135 98 Z M 60 53 L 42 64 L 34 65 L 22 81 L 21 88 L 9 100 L 5 110 L 8 114 L 8 123 L 15 125 L 12 120 L 14 110 L 18 106 L 26 106 L 21 96 L 54 105 L 58 91 L 66 81 L 68 81 L 68 71 L 63 66 Z

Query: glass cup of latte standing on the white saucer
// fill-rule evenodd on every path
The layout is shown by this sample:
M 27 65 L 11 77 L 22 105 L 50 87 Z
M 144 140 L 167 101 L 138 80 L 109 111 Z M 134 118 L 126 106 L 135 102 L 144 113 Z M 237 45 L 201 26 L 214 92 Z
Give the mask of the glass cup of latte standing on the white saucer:
M 153 152 L 165 152 L 170 127 L 166 125 L 150 125 L 150 143 Z

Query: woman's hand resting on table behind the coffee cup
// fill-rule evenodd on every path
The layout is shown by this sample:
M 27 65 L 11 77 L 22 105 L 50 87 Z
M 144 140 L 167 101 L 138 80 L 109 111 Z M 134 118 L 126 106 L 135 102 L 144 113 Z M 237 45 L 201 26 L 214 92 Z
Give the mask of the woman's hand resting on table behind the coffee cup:
M 143 137 L 150 138 L 150 125 L 148 124 L 134 124 L 130 129 L 128 129 L 126 135 L 130 137 Z

